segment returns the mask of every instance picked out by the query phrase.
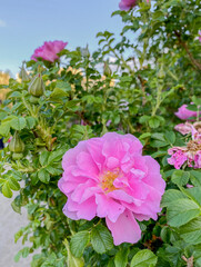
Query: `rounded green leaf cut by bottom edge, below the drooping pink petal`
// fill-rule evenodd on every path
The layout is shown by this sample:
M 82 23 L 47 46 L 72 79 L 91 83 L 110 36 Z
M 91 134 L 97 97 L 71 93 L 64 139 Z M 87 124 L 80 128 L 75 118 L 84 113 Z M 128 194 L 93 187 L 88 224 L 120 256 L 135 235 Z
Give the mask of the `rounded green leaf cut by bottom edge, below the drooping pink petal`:
M 149 249 L 140 250 L 131 260 L 131 267 L 153 267 L 157 264 L 157 256 Z

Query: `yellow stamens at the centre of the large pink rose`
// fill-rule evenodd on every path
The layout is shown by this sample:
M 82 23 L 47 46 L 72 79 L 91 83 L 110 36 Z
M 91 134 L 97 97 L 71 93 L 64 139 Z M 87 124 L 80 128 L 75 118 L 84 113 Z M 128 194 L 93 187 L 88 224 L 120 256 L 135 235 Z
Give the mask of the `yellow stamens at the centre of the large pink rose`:
M 119 169 L 114 169 L 112 171 L 107 170 L 101 175 L 101 188 L 104 192 L 110 192 L 117 189 L 113 185 L 113 181 L 115 180 L 115 178 L 118 178 L 119 172 Z

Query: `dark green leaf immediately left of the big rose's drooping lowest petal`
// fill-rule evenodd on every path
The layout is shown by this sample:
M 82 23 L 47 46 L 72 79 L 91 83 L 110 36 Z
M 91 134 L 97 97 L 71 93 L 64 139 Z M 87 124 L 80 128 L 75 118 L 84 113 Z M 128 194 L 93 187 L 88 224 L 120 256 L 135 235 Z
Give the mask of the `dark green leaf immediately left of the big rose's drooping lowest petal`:
M 93 249 L 99 254 L 103 254 L 113 247 L 112 237 L 109 230 L 102 225 L 98 225 L 92 229 L 91 244 Z

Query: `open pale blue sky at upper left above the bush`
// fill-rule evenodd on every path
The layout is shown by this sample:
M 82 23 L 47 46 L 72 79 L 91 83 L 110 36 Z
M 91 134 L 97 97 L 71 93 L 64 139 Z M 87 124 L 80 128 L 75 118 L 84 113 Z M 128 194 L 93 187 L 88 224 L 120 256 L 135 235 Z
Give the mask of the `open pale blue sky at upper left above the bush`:
M 4 0 L 0 4 L 0 70 L 18 72 L 43 41 L 68 41 L 68 48 L 97 48 L 98 31 L 119 32 L 111 18 L 120 0 Z

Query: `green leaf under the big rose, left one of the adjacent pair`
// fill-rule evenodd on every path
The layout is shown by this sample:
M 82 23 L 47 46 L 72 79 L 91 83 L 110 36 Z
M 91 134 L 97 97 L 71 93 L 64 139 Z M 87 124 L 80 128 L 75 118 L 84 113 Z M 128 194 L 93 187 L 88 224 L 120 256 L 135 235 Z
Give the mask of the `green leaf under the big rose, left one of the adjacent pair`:
M 90 239 L 89 231 L 79 231 L 74 236 L 72 236 L 70 241 L 70 250 L 72 255 L 77 258 L 80 258 L 83 254 L 86 246 L 88 245 Z

